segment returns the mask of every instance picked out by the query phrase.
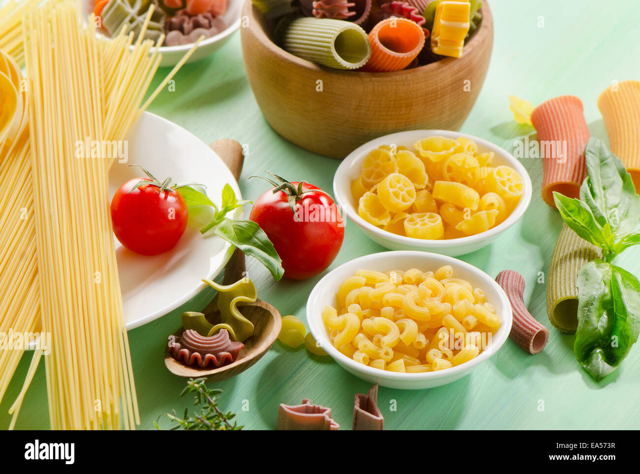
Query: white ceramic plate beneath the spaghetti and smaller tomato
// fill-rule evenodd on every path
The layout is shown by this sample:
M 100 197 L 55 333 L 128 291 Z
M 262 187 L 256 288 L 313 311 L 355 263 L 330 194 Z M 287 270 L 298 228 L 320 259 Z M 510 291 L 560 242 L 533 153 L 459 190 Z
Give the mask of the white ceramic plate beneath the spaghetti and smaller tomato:
M 144 176 L 140 168 L 129 164 L 142 165 L 159 180 L 170 176 L 176 183 L 197 181 L 218 205 L 226 183 L 241 199 L 236 180 L 220 157 L 195 135 L 166 119 L 145 112 L 129 130 L 128 146 L 128 162 L 115 162 L 109 172 L 109 199 L 125 181 Z M 241 214 L 240 208 L 233 213 L 236 218 Z M 227 241 L 217 236 L 204 238 L 192 226 L 172 250 L 157 256 L 141 256 L 114 240 L 127 329 L 191 300 L 207 287 L 202 279 L 216 277 L 233 250 Z

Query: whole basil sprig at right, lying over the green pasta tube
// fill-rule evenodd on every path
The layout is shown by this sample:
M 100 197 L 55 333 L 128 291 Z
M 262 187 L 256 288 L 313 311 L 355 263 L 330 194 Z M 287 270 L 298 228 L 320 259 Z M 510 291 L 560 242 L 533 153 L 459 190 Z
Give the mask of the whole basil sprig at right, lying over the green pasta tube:
M 640 243 L 640 197 L 620 158 L 599 139 L 586 146 L 588 176 L 580 199 L 554 192 L 560 215 L 576 234 L 602 248 L 604 260 L 590 261 L 578 273 L 578 328 L 573 353 L 600 381 L 627 356 L 640 334 L 640 282 L 612 264 Z

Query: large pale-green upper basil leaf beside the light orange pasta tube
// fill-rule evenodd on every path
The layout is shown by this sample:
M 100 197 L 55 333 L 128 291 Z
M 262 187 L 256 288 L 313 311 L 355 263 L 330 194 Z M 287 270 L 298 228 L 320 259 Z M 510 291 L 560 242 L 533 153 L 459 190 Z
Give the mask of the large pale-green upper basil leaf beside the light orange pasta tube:
M 640 197 L 625 165 L 600 139 L 591 137 L 584 151 L 587 179 L 580 187 L 580 199 L 604 226 L 620 238 L 633 231 L 640 219 Z

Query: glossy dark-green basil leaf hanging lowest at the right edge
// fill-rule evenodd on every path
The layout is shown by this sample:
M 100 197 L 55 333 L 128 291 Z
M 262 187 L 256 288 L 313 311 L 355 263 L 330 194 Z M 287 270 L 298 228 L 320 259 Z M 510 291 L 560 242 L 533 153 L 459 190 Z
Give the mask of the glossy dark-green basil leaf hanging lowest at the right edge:
M 600 381 L 620 365 L 640 333 L 640 282 L 622 268 L 593 260 L 580 268 L 577 286 L 573 352 Z

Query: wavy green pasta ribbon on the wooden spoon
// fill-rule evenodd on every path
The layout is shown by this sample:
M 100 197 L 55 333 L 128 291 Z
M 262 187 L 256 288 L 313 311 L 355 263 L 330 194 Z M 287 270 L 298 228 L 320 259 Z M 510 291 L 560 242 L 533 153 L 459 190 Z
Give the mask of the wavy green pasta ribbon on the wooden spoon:
M 257 300 L 258 297 L 252 280 L 243 278 L 234 284 L 226 286 L 207 279 L 202 281 L 213 289 L 218 290 L 218 309 L 220 310 L 221 319 L 221 323 L 212 326 L 207 335 L 212 336 L 221 329 L 226 329 L 229 332 L 229 337 L 233 340 L 242 342 L 251 337 L 253 335 L 253 323 L 242 315 L 240 310 L 237 309 L 237 304 L 253 303 Z M 182 321 L 184 323 L 184 315 Z M 184 327 L 185 329 L 187 328 L 186 326 Z

